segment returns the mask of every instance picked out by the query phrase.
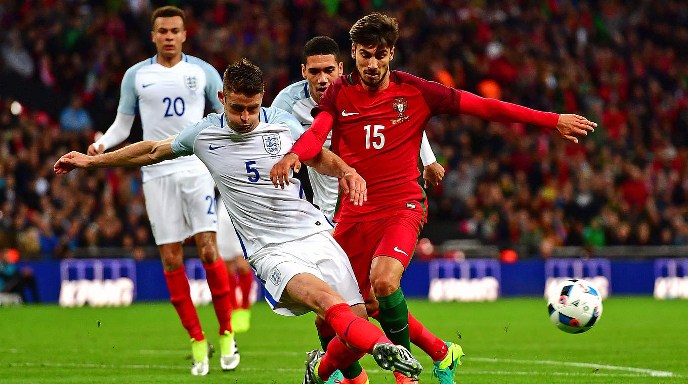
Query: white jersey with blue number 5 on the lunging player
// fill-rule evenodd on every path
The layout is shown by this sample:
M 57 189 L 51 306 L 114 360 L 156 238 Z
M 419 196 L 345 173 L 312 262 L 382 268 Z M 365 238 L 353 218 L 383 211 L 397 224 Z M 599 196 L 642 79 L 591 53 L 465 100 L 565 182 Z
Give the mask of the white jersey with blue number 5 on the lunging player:
M 292 115 L 270 107 L 261 108 L 260 122 L 249 133 L 230 128 L 224 113 L 211 113 L 172 141 L 175 154 L 195 154 L 210 170 L 246 257 L 266 245 L 333 228 L 303 199 L 301 182 L 292 174 L 284 189 L 270 181 L 272 166 L 301 133 L 303 128 Z

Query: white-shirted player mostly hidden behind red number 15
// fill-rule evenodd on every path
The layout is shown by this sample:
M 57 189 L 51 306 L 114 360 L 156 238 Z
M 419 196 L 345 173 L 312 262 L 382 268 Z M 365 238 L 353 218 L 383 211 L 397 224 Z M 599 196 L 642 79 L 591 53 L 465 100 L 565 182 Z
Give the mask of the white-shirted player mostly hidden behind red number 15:
M 316 36 L 303 47 L 301 76 L 305 80 L 294 82 L 282 89 L 272 101 L 272 106 L 291 113 L 303 128 L 308 129 L 313 122 L 310 110 L 318 104 L 327 87 L 342 74 L 343 63 L 339 58 L 339 46 L 336 41 L 328 36 Z M 325 148 L 330 149 L 331 140 L 332 132 L 327 135 Z M 437 162 L 425 133 L 420 144 L 420 159 L 424 167 L 425 188 L 442 181 L 444 167 Z M 339 192 L 337 179 L 319 174 L 310 167 L 308 179 L 313 188 L 313 204 L 332 221 Z

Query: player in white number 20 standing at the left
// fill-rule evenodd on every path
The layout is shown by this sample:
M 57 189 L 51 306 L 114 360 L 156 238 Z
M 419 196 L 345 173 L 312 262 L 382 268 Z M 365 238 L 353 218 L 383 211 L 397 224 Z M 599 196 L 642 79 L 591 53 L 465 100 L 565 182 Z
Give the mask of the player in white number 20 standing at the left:
M 127 139 L 137 108 L 143 139 L 153 141 L 180 133 L 184 127 L 201 120 L 206 98 L 215 111 L 222 111 L 216 96 L 222 89 L 217 70 L 199 58 L 182 53 L 182 43 L 186 40 L 184 12 L 171 6 L 158 8 L 153 12 L 151 24 L 151 40 L 158 54 L 127 70 L 115 121 L 103 137 L 89 146 L 89 155 L 103 153 Z M 213 348 L 202 331 L 184 271 L 182 242 L 189 236 L 196 242 L 213 295 L 219 321 L 220 365 L 223 370 L 233 370 L 239 363 L 239 354 L 230 324 L 232 306 L 227 269 L 217 255 L 213 178 L 195 156 L 144 166 L 141 172 L 146 211 L 162 258 L 171 302 L 191 337 L 194 360 L 191 373 L 208 373 L 208 357 Z

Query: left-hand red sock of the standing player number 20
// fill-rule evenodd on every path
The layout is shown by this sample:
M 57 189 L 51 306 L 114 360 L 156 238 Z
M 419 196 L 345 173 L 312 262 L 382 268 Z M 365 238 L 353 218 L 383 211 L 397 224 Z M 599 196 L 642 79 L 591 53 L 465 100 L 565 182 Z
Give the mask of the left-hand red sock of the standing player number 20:
M 170 291 L 170 301 L 177 310 L 182 326 L 189 332 L 189 336 L 196 341 L 205 339 L 201 330 L 201 322 L 198 320 L 196 307 L 191 301 L 189 279 L 186 278 L 184 267 L 176 271 L 164 271 L 167 289 Z

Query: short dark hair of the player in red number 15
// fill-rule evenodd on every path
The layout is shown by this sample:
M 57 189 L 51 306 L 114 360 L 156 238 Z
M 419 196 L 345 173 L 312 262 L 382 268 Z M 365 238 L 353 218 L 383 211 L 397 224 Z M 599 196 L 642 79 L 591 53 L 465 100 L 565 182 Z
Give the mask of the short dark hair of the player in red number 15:
M 391 48 L 399 37 L 399 24 L 394 17 L 373 12 L 356 21 L 349 36 L 354 44 Z

